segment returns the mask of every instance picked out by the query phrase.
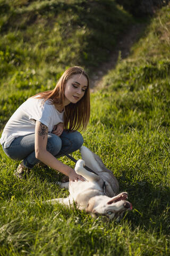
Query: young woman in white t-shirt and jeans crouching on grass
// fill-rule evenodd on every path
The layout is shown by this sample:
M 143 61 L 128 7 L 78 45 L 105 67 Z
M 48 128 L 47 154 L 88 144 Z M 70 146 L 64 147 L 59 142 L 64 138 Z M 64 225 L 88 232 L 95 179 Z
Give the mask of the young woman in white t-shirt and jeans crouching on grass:
M 41 92 L 15 111 L 5 125 L 1 145 L 12 159 L 22 160 L 14 172 L 24 173 L 39 162 L 67 175 L 71 181 L 83 178 L 56 158 L 78 150 L 83 143 L 77 131 L 90 118 L 89 78 L 81 67 L 67 69 L 52 91 Z

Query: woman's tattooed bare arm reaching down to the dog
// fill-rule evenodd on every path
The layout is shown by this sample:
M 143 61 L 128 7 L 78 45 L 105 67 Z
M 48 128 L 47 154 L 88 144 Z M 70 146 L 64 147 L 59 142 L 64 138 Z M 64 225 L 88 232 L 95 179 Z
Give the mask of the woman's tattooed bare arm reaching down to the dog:
M 71 167 L 58 161 L 52 154 L 50 154 L 47 147 L 48 139 L 48 127 L 39 121 L 36 121 L 35 129 L 35 152 L 36 158 L 39 159 L 44 164 L 49 167 L 62 172 L 63 174 L 69 176 L 71 181 L 84 180 L 80 175 L 78 175 Z

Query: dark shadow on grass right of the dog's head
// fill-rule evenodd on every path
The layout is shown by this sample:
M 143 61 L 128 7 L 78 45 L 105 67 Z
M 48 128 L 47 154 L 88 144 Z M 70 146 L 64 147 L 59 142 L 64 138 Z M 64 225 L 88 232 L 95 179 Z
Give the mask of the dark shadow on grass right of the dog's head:
M 162 187 L 161 184 L 154 186 L 146 180 L 130 183 L 131 181 L 120 179 L 120 190 L 128 192 L 129 201 L 133 205 L 132 212 L 127 215 L 132 229 L 142 228 L 168 235 L 170 230 L 170 188 Z

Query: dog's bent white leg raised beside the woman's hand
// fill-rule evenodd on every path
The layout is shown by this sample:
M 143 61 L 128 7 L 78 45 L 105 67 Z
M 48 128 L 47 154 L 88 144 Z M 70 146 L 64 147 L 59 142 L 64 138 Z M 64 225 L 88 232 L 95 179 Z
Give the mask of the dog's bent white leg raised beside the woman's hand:
M 78 160 L 78 162 L 75 165 L 75 172 L 79 175 L 81 175 L 83 178 L 85 178 L 88 181 L 97 181 L 100 180 L 99 175 L 89 172 L 86 169 L 84 169 L 85 162 L 80 159 Z

